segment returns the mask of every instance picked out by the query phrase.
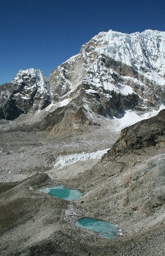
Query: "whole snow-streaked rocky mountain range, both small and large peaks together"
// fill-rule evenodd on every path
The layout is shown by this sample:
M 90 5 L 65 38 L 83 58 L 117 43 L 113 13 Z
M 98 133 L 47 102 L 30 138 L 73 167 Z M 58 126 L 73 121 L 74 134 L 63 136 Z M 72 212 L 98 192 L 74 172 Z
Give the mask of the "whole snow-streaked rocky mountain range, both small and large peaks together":
M 127 110 L 158 110 L 165 105 L 164 43 L 160 31 L 101 32 L 49 79 L 40 70 L 28 69 L 1 86 L 0 118 L 13 120 L 52 103 L 46 110 L 52 117 L 49 129 L 62 110 L 64 123 L 69 116 L 68 126 L 74 130 L 79 124 L 94 124 L 95 115 L 121 118 Z

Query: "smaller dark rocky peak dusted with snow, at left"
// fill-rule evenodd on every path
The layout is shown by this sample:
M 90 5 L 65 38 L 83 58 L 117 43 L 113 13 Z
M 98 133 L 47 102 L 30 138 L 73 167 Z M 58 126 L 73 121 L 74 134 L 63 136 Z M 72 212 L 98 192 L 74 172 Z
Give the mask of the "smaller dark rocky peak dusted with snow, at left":
M 51 103 L 48 78 L 38 69 L 20 70 L 12 83 L 0 87 L 0 119 L 13 120 Z

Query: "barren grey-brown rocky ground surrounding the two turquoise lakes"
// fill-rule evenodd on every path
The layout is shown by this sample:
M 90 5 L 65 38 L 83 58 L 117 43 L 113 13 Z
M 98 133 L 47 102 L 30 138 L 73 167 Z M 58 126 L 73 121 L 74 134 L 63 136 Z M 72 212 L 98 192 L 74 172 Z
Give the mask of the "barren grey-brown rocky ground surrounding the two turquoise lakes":
M 149 120 L 120 137 L 108 119 L 67 137 L 23 132 L 19 124 L 3 121 L 0 254 L 163 255 L 164 111 Z M 101 160 L 54 167 L 59 155 L 106 148 L 111 150 Z M 69 202 L 39 191 L 59 184 L 81 189 L 84 196 Z M 122 235 L 105 239 L 75 227 L 84 216 L 116 223 Z

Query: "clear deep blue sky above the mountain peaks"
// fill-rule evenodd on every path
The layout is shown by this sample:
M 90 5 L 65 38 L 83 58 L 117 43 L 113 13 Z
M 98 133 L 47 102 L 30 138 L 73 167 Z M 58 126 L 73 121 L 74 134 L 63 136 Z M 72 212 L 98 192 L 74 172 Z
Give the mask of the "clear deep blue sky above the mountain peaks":
M 164 0 L 1 0 L 0 84 L 20 69 L 50 75 L 100 31 L 165 31 L 164 10 Z

